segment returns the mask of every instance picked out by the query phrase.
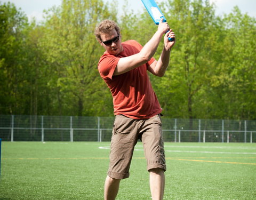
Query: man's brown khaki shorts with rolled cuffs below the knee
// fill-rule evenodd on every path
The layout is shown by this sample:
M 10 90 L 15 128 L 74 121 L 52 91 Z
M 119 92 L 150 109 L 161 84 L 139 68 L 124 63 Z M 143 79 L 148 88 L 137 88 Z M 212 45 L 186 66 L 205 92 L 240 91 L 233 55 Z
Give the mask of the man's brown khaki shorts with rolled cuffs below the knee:
M 166 171 L 161 116 L 138 120 L 117 115 L 111 138 L 109 177 L 129 177 L 134 146 L 139 139 L 143 143 L 147 170 L 161 168 Z

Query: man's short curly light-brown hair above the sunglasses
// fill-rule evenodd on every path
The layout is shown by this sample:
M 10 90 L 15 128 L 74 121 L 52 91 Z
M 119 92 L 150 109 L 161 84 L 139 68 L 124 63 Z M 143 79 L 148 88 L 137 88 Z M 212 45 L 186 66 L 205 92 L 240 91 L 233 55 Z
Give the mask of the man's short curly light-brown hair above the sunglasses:
M 120 28 L 117 26 L 116 22 L 106 19 L 101 21 L 100 24 L 95 28 L 94 35 L 99 41 L 101 41 L 100 35 L 107 34 L 113 29 L 115 29 L 117 34 L 120 35 Z

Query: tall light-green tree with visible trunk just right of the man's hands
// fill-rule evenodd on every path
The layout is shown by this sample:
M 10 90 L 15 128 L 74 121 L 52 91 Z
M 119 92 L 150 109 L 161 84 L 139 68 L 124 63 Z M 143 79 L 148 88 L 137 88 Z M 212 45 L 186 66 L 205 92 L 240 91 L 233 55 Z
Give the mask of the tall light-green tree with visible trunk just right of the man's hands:
M 201 0 L 174 0 L 165 5 L 177 43 L 171 53 L 170 68 L 157 81 L 157 90 L 164 91 L 159 99 L 166 115 L 192 119 L 198 117 L 194 111 L 197 97 L 207 84 L 212 67 L 208 44 L 215 28 L 214 9 L 209 1 Z

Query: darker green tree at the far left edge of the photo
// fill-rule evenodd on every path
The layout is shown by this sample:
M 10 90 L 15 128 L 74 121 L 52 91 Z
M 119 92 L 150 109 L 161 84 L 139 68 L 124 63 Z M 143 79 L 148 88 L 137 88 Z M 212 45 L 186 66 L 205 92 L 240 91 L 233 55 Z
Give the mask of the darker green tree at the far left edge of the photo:
M 24 39 L 28 26 L 25 14 L 14 4 L 0 4 L 0 112 L 22 113 L 27 97 L 21 92 L 26 88 L 22 65 L 25 52 Z

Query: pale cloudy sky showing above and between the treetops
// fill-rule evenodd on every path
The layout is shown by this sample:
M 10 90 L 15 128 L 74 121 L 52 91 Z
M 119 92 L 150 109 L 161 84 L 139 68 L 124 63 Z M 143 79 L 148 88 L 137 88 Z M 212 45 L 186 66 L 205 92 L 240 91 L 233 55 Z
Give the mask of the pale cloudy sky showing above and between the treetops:
M 107 2 L 108 0 L 103 1 Z M 164 0 L 158 0 L 157 2 L 162 1 Z M 27 14 L 29 20 L 35 17 L 37 21 L 43 20 L 43 10 L 61 4 L 61 0 L 2 0 L 2 2 L 14 3 L 17 8 L 20 7 L 21 10 Z M 118 6 L 120 7 L 121 12 L 123 2 L 124 1 L 118 0 Z M 135 13 L 145 9 L 142 2 L 139 0 L 129 0 L 128 2 L 130 5 L 128 9 L 132 9 Z M 251 17 L 256 18 L 256 0 L 210 0 L 210 2 L 214 2 L 217 6 L 215 10 L 217 15 L 230 13 L 233 10 L 233 7 L 237 5 L 243 14 L 247 13 Z

